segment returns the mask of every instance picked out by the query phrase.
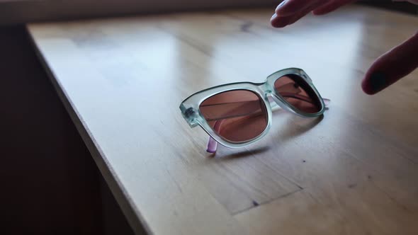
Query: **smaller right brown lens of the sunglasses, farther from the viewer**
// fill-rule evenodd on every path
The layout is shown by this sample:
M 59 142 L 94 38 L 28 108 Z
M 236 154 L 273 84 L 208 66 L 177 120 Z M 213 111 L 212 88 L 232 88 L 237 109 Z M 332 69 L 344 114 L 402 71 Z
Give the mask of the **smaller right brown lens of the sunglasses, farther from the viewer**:
M 320 98 L 307 81 L 298 75 L 282 76 L 274 82 L 274 88 L 290 105 L 303 113 L 318 113 L 322 109 Z

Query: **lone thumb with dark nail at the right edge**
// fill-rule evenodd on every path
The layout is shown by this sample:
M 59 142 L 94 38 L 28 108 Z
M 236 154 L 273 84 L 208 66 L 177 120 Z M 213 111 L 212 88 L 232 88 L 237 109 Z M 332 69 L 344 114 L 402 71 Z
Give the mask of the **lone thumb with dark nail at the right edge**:
M 369 95 L 382 91 L 418 67 L 418 33 L 379 57 L 368 69 L 361 87 Z

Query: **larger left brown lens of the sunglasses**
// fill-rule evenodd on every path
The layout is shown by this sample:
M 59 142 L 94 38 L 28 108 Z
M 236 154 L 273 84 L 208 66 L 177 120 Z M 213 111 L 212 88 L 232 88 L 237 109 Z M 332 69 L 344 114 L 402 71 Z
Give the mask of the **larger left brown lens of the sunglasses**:
M 200 104 L 200 113 L 210 127 L 229 142 L 247 142 L 267 127 L 266 106 L 252 91 L 218 93 Z

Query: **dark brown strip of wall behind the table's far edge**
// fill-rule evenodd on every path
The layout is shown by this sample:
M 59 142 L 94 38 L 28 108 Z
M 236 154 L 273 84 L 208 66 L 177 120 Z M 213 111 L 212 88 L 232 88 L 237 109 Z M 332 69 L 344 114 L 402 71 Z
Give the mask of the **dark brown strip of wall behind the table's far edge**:
M 274 6 L 278 0 L 22 0 L 0 2 L 0 24 L 195 9 Z

